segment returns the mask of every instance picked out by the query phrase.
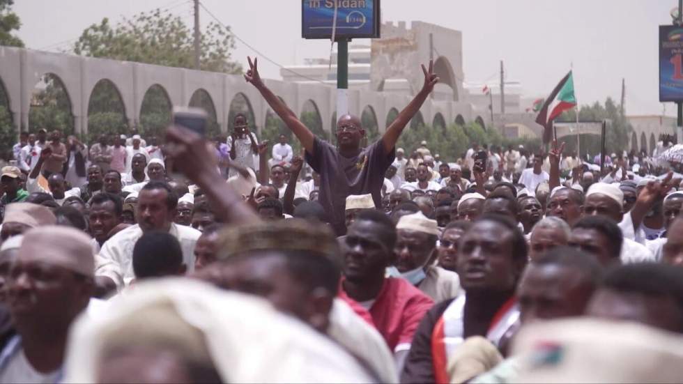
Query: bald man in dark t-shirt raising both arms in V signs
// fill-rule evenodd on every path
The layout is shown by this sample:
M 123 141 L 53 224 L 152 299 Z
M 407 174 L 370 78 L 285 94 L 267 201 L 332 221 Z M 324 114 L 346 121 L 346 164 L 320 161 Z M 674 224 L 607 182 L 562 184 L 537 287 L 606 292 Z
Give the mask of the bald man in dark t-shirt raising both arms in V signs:
M 433 72 L 433 64 L 429 71 L 422 66 L 424 84 L 413 101 L 399 113 L 394 122 L 387 127 L 383 137 L 367 148 L 361 148 L 360 142 L 365 135 L 360 118 L 351 115 L 339 116 L 337 121 L 337 145 L 334 146 L 317 139 L 291 110 L 270 91 L 259 75 L 256 59 L 252 63 L 245 79 L 256 87 L 268 105 L 282 118 L 284 123 L 296 135 L 306 150 L 306 160 L 321 175 L 319 201 L 330 214 L 332 226 L 338 235 L 343 235 L 344 200 L 350 194 L 372 194 L 376 207 L 381 207 L 380 190 L 383 176 L 394 161 L 394 146 L 401 132 L 417 114 L 424 100 L 427 100 L 438 77 Z M 438 189 L 438 188 L 437 188 Z

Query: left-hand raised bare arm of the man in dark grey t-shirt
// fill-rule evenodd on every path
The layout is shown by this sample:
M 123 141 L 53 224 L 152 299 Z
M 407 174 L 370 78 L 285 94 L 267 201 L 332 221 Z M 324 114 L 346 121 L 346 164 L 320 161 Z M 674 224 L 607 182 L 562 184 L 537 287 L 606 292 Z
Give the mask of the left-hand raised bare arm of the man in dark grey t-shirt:
M 277 116 L 282 118 L 282 121 L 284 121 L 287 127 L 289 127 L 299 141 L 301 141 L 301 145 L 306 148 L 306 151 L 308 151 L 308 153 L 313 153 L 313 142 L 315 140 L 313 132 L 311 132 L 311 130 L 309 130 L 306 125 L 299 120 L 296 114 L 292 112 L 291 109 L 289 109 L 284 102 L 280 100 L 275 93 L 273 93 L 273 91 L 268 89 L 266 84 L 263 84 L 261 75 L 259 75 L 257 59 L 254 58 L 253 63 L 251 57 L 247 57 L 247 60 L 249 61 L 249 70 L 247 70 L 246 75 L 244 75 L 245 80 L 252 83 L 252 85 L 255 86 L 259 92 L 261 92 L 261 95 L 264 99 L 266 99 L 268 105 L 273 108 L 273 111 L 275 111 Z

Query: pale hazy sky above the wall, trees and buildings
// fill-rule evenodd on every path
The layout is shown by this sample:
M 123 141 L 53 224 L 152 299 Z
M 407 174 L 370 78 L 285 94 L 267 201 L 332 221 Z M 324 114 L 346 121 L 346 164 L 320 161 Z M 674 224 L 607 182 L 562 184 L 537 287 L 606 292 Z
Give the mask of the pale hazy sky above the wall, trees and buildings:
M 326 57 L 330 43 L 301 38 L 300 0 L 202 0 L 224 24 L 282 65 Z M 463 32 L 463 71 L 468 82 L 495 82 L 500 59 L 507 80 L 523 95 L 542 96 L 574 63 L 578 102 L 620 97 L 626 78 L 627 113 L 661 114 L 658 94 L 659 24 L 670 24 L 675 0 L 383 0 L 384 21 L 420 20 Z M 192 23 L 189 0 L 15 0 L 27 47 L 68 48 L 90 24 L 114 22 L 140 11 L 169 8 Z M 201 23 L 210 21 L 203 10 Z M 437 47 L 438 49 L 438 47 Z M 254 55 L 237 43 L 234 58 L 246 66 Z M 279 68 L 260 61 L 265 77 Z M 415 68 L 419 70 L 419 68 Z M 675 114 L 673 104 L 666 114 Z

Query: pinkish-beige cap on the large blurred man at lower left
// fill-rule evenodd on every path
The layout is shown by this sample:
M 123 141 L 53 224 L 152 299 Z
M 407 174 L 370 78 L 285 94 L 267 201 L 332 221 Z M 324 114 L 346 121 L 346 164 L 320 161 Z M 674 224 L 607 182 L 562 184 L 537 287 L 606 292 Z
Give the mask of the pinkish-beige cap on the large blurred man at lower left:
M 85 276 L 95 272 L 90 236 L 69 226 L 38 226 L 26 231 L 17 260 L 40 261 Z

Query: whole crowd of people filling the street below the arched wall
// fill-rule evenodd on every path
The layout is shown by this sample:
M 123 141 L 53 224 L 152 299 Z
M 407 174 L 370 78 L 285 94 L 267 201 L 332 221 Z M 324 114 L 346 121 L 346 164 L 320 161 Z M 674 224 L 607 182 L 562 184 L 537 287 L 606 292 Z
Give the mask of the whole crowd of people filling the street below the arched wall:
M 213 141 L 22 132 L 0 383 L 680 382 L 680 164 L 406 155 L 432 63 L 378 141 L 346 114 L 332 146 L 249 63 L 302 153 L 243 114 Z

